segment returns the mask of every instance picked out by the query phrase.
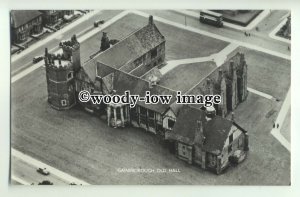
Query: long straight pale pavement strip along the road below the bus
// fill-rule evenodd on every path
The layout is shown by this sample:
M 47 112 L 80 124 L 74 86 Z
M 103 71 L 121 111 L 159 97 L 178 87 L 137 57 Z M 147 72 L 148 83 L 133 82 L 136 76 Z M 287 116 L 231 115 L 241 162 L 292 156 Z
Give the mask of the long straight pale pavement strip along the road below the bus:
M 137 11 L 137 10 L 131 10 L 131 12 L 134 13 L 134 14 L 143 16 L 143 17 L 149 17 L 149 15 L 150 15 L 148 13 Z M 215 38 L 215 39 L 223 40 L 223 41 L 226 41 L 226 42 L 229 42 L 229 43 L 234 43 L 236 45 L 247 47 L 247 48 L 250 48 L 250 49 L 253 49 L 253 50 L 257 50 L 257 51 L 261 51 L 261 52 L 264 52 L 264 53 L 268 53 L 270 55 L 278 56 L 278 57 L 281 57 L 283 59 L 287 59 L 287 60 L 291 59 L 290 55 L 286 55 L 286 54 L 283 54 L 283 53 L 280 53 L 280 52 L 277 52 L 277 51 L 272 51 L 270 49 L 265 49 L 265 48 L 262 48 L 260 46 L 256 46 L 256 45 L 253 45 L 253 44 L 250 44 L 250 43 L 247 43 L 247 42 L 242 42 L 242 41 L 234 40 L 234 39 L 227 38 L 227 37 L 224 37 L 224 36 L 220 36 L 220 35 L 217 35 L 217 34 L 213 34 L 211 32 L 200 30 L 200 29 L 197 29 L 197 28 L 194 28 L 194 27 L 185 26 L 184 24 L 180 24 L 180 23 L 177 23 L 177 22 L 169 21 L 167 19 L 164 19 L 164 18 L 161 18 L 161 17 L 158 17 L 158 16 L 155 16 L 154 20 L 162 22 L 162 23 L 166 23 L 166 24 L 169 24 L 169 25 L 172 25 L 174 27 L 185 29 L 185 30 L 188 30 L 188 31 L 191 31 L 191 32 L 194 32 L 194 33 L 202 34 L 202 35 L 205 35 L 205 36 L 208 36 L 208 37 L 212 37 L 212 38 Z

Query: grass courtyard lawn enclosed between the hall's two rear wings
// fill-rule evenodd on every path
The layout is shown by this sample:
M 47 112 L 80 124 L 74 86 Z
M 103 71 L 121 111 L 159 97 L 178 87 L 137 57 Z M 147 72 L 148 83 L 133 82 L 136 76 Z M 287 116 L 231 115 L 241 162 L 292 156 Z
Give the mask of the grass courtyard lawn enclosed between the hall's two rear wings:
M 178 65 L 167 72 L 159 84 L 173 90 L 188 91 L 216 68 L 213 62 Z

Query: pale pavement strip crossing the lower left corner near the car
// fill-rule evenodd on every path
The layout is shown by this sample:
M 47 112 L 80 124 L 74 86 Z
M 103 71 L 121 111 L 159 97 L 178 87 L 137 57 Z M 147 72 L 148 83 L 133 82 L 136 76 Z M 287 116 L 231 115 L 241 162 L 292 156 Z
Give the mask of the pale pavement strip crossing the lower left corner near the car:
M 82 185 L 90 185 L 89 183 L 80 180 L 78 178 L 75 178 L 65 172 L 62 172 L 56 168 L 53 168 L 52 166 L 49 166 L 41 161 L 38 161 L 28 155 L 25 155 L 24 153 L 21 153 L 20 151 L 17 151 L 16 149 L 12 148 L 11 149 L 11 154 L 14 157 L 17 157 L 18 159 L 23 160 L 24 162 L 31 164 L 37 168 L 46 168 L 50 173 L 54 174 L 55 176 L 63 179 L 63 180 L 67 180 L 68 182 L 72 183 L 76 183 L 76 184 L 82 184 Z

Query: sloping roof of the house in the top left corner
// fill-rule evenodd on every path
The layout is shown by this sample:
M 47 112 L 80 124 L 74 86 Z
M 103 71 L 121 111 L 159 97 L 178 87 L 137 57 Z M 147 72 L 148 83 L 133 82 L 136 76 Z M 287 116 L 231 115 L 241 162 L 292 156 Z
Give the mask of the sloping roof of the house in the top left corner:
M 10 15 L 12 27 L 17 28 L 42 15 L 42 13 L 37 10 L 12 10 Z

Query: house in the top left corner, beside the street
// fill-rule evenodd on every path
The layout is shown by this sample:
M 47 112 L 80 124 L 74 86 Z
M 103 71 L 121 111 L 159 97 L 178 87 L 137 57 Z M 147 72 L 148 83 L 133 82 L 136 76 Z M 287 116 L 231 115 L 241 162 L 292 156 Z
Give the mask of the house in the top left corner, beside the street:
M 42 13 L 37 10 L 12 10 L 10 17 L 12 43 L 23 43 L 43 31 Z

